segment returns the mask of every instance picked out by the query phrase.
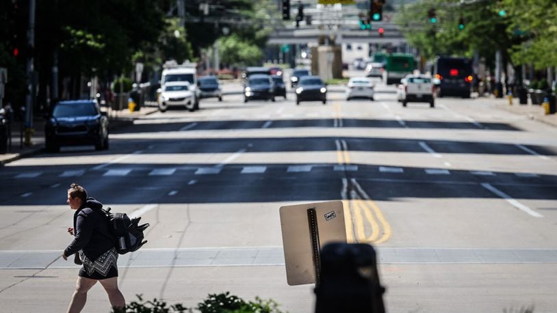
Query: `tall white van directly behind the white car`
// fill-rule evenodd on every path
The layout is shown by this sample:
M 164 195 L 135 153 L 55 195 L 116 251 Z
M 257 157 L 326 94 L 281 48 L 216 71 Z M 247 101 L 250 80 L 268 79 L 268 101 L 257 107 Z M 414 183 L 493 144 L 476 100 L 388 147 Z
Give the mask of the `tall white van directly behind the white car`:
M 187 81 L 190 83 L 190 90 L 194 94 L 194 103 L 192 107 L 189 107 L 190 111 L 195 111 L 199 109 L 199 99 L 201 98 L 201 91 L 197 85 L 197 70 L 195 63 L 184 62 L 183 64 L 177 64 L 176 61 L 167 61 L 163 65 L 163 70 L 161 74 L 161 90 L 164 90 L 164 84 L 174 82 L 174 81 Z M 160 93 L 159 93 L 160 94 Z M 161 99 L 159 97 L 159 105 Z

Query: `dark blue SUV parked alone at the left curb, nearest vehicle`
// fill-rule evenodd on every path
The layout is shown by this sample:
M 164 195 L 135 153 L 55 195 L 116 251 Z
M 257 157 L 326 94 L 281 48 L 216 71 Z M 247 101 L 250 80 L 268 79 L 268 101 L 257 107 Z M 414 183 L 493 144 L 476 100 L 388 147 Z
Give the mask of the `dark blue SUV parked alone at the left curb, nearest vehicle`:
M 95 100 L 67 100 L 56 103 L 44 124 L 48 151 L 60 146 L 94 145 L 108 149 L 108 117 Z

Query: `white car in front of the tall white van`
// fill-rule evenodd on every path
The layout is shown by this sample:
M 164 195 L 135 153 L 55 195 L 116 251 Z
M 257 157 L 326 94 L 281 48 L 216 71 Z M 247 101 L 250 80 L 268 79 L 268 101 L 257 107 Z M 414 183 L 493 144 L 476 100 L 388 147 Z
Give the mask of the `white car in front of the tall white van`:
M 164 84 L 159 97 L 159 111 L 164 112 L 168 107 L 185 107 L 195 111 L 194 92 L 187 81 L 171 81 Z

